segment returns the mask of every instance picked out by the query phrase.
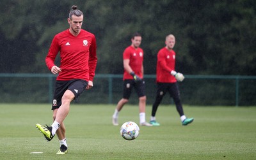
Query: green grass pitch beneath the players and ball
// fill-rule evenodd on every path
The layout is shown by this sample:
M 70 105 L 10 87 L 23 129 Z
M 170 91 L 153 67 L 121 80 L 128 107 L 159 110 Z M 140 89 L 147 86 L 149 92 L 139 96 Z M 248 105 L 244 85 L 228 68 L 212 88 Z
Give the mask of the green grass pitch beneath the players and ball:
M 115 105 L 72 104 L 65 120 L 68 154 L 46 142 L 36 123 L 51 124 L 51 105 L 0 104 L 0 159 L 256 159 L 256 107 L 184 106 L 182 126 L 172 106 L 159 106 L 158 127 L 140 127 L 136 140 L 120 136 L 123 122 L 138 124 L 138 106 L 126 105 L 112 126 Z M 151 106 L 147 106 L 149 120 Z M 43 152 L 42 154 L 29 154 Z

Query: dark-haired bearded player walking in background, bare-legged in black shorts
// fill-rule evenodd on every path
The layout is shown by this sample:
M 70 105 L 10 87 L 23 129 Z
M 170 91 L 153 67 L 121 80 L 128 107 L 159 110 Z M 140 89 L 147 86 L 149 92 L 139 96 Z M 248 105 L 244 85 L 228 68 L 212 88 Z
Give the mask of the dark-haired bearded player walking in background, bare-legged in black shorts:
M 123 98 L 117 103 L 115 113 L 112 116 L 112 122 L 114 126 L 118 126 L 118 113 L 122 110 L 123 106 L 128 103 L 132 88 L 134 88 L 139 98 L 140 125 L 152 126 L 145 120 L 146 96 L 145 82 L 143 80 L 143 50 L 140 48 L 141 35 L 135 33 L 134 36 L 132 36 L 131 41 L 131 46 L 125 48 L 123 54 L 124 94 Z

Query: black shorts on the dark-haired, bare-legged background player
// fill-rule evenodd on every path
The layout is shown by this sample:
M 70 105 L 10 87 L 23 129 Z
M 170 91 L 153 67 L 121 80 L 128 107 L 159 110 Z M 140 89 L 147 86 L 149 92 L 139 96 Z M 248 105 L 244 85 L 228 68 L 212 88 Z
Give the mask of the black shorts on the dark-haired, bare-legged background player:
M 145 96 L 145 81 L 135 82 L 134 80 L 124 80 L 124 94 L 123 98 L 129 99 L 134 87 L 137 92 L 138 98 Z

